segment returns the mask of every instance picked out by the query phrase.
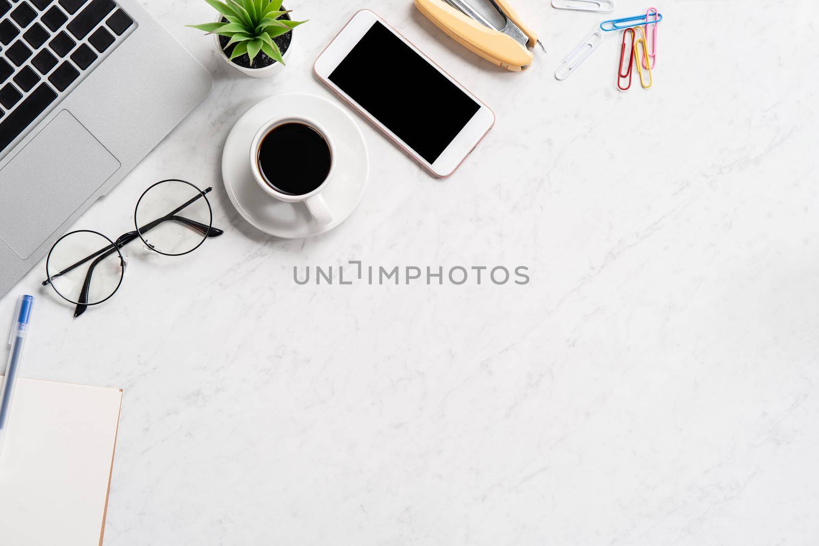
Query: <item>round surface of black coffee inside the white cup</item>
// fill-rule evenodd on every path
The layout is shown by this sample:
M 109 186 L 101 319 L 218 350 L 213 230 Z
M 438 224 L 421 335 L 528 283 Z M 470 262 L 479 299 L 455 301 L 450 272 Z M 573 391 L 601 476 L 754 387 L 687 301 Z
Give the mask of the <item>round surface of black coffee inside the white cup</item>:
M 321 186 L 333 160 L 324 136 L 296 121 L 270 129 L 256 158 L 265 182 L 290 196 L 303 196 Z

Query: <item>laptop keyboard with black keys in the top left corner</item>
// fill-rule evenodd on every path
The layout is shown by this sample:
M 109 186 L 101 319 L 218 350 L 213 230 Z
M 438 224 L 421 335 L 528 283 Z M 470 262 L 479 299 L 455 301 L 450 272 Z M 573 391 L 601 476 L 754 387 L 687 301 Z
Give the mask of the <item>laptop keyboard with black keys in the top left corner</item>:
M 114 0 L 0 0 L 0 155 L 134 28 Z

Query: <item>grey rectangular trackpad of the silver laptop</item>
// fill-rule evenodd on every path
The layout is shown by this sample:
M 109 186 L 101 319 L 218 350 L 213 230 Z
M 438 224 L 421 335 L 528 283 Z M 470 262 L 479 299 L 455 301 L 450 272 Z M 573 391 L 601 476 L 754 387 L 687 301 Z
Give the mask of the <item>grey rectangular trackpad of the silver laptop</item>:
M 0 170 L 0 238 L 27 259 L 120 162 L 61 111 Z

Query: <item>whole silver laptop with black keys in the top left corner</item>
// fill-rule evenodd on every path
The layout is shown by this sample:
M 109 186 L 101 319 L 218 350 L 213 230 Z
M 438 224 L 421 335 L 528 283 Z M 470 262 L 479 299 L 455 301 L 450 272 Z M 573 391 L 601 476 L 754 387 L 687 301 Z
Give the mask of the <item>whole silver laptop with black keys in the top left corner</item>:
M 0 0 L 0 296 L 212 87 L 137 0 Z

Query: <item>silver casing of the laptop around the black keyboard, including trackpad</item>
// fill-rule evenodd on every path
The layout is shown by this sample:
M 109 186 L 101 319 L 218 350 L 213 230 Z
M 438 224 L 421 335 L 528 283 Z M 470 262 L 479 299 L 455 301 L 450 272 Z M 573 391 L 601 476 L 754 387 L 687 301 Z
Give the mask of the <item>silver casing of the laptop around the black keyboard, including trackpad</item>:
M 0 218 L 0 296 L 213 87 L 205 67 L 136 0 L 117 3 L 136 23 L 128 38 L 0 156 L 0 215 L 7 216 L 5 223 Z M 70 138 L 59 138 L 61 131 L 70 131 Z M 64 142 L 67 140 L 74 142 Z M 66 157 L 33 160 L 42 155 L 43 147 L 54 143 Z M 66 193 L 69 190 L 61 185 L 59 169 L 68 169 L 80 181 L 86 174 L 97 177 L 99 185 L 92 183 L 89 189 L 87 183 L 78 183 L 77 192 Z M 71 176 L 66 178 L 70 189 Z M 52 184 L 63 193 L 43 192 L 43 184 Z M 29 203 L 25 211 L 20 210 L 16 196 L 28 188 L 30 197 L 32 187 L 37 189 L 38 206 Z M 45 238 L 39 242 L 41 234 Z

